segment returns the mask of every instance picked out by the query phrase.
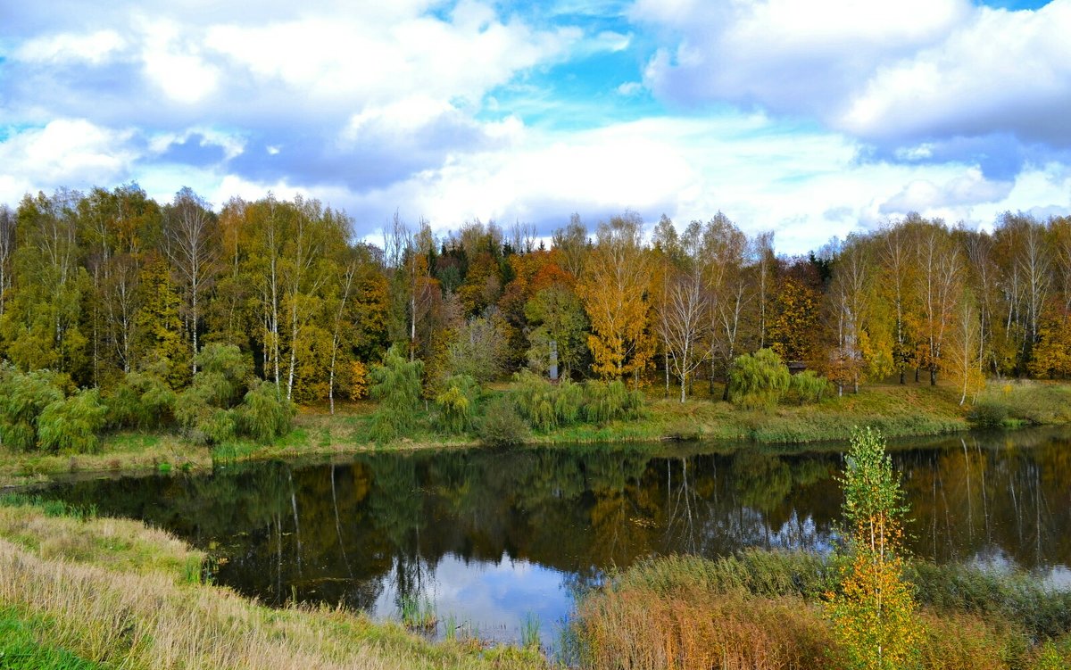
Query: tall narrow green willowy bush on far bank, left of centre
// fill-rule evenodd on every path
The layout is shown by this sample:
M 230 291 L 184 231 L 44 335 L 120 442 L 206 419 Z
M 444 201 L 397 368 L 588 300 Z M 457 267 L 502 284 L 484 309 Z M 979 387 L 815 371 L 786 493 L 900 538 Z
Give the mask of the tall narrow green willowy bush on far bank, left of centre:
M 383 355 L 383 362 L 372 368 L 369 395 L 379 401 L 372 415 L 372 436 L 386 442 L 406 432 L 413 424 L 420 406 L 421 378 L 424 362 L 408 361 L 398 345 Z

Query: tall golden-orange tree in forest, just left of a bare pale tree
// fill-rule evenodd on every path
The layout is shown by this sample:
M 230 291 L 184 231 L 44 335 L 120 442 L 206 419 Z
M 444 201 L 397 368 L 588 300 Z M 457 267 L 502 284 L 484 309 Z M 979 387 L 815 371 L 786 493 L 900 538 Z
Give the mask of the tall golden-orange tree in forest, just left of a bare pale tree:
M 604 378 L 631 374 L 638 381 L 654 353 L 654 340 L 647 332 L 651 263 L 642 228 L 634 213 L 599 224 L 594 248 L 576 287 L 591 322 L 591 369 Z

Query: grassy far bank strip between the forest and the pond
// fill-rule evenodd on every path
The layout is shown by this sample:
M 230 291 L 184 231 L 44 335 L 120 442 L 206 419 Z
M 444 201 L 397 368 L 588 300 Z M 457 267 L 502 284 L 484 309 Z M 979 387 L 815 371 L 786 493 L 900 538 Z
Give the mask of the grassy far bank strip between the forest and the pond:
M 509 386 L 485 392 L 489 397 Z M 878 384 L 859 394 L 830 396 L 817 403 L 780 405 L 767 411 L 743 410 L 705 397 L 680 403 L 649 390 L 643 416 L 605 424 L 577 423 L 550 431 L 529 430 L 529 444 L 654 443 L 710 440 L 726 444 L 804 444 L 845 440 L 855 426 L 879 428 L 889 438 L 934 436 L 967 430 L 972 411 L 984 410 L 992 425 L 1071 423 L 1071 385 L 993 382 L 974 406 L 960 406 L 954 389 L 924 384 Z M 340 406 L 334 415 L 322 407 L 302 408 L 293 429 L 269 444 L 236 441 L 214 448 L 190 444 L 174 435 L 106 436 L 96 454 L 19 454 L 0 450 L 0 487 L 47 482 L 78 473 L 205 471 L 214 462 L 355 454 L 373 450 L 466 448 L 481 444 L 474 431 L 443 436 L 432 412 L 420 412 L 412 435 L 388 444 L 369 437 L 372 402 Z

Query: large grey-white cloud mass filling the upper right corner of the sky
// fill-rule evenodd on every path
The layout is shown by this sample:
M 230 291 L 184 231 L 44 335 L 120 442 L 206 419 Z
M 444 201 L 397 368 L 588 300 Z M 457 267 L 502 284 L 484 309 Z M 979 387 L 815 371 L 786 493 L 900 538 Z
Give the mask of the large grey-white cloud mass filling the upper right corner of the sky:
M 900 148 L 1000 134 L 1071 146 L 1071 0 L 638 0 L 633 16 L 675 37 L 645 71 L 666 100 L 809 115 Z

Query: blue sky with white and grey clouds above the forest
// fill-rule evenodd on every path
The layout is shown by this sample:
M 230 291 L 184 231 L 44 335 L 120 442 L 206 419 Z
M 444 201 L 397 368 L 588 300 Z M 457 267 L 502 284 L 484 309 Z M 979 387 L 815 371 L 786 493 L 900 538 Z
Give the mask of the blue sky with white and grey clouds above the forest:
M 106 6 L 102 6 L 106 4 Z M 0 0 L 0 202 L 296 194 L 381 240 L 1071 213 L 1071 0 Z

